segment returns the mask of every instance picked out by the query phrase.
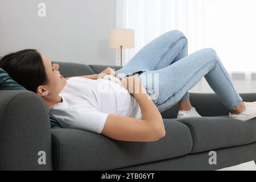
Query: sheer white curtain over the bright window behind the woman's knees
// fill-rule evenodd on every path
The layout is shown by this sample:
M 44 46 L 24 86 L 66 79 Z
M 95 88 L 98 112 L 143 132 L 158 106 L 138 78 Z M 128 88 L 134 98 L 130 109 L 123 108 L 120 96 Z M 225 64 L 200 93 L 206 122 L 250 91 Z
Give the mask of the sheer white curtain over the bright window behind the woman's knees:
M 256 92 L 256 0 L 117 0 L 117 27 L 135 30 L 135 48 L 124 50 L 125 63 L 177 29 L 188 38 L 189 54 L 214 48 L 238 92 Z M 213 92 L 204 78 L 190 91 Z

